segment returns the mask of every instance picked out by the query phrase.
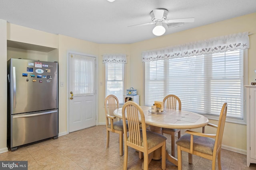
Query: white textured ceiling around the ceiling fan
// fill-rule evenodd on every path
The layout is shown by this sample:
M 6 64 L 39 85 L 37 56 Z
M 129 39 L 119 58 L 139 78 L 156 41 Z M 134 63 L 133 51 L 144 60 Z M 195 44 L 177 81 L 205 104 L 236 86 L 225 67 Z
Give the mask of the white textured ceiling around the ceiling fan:
M 154 9 L 168 10 L 167 20 L 195 18 L 164 35 L 256 12 L 256 0 L 0 0 L 0 19 L 48 33 L 94 43 L 124 44 L 155 38 Z

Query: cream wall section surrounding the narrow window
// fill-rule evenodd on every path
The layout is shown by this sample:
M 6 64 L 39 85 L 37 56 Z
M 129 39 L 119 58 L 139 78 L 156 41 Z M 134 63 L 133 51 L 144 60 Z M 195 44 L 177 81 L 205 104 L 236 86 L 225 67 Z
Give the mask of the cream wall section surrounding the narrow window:
M 105 111 L 104 111 L 104 101 L 105 101 L 105 64 L 102 63 L 103 54 L 126 54 L 127 64 L 125 64 L 124 74 L 124 89 L 130 88 L 130 44 L 100 44 L 99 48 L 99 60 L 98 60 L 98 108 L 99 108 L 99 125 L 106 125 Z M 102 82 L 102 86 L 100 86 Z

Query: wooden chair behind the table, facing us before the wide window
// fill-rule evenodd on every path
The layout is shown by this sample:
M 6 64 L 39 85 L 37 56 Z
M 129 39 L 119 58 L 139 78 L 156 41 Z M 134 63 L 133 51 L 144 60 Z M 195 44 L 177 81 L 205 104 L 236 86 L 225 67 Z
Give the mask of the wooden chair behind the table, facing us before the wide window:
M 163 100 L 164 107 L 168 109 L 179 109 L 181 110 L 181 101 L 178 96 L 170 94 L 166 96 Z M 175 135 L 178 133 L 178 139 L 180 138 L 180 129 L 168 129 L 162 128 L 162 134 L 169 134 L 171 135 L 171 146 L 172 146 L 172 156 L 175 156 Z

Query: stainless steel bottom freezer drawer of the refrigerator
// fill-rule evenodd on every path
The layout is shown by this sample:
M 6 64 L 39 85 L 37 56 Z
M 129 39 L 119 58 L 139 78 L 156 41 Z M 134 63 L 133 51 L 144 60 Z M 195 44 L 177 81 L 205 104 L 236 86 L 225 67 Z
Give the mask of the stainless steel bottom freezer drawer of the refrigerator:
M 10 148 L 58 136 L 58 110 L 11 115 Z

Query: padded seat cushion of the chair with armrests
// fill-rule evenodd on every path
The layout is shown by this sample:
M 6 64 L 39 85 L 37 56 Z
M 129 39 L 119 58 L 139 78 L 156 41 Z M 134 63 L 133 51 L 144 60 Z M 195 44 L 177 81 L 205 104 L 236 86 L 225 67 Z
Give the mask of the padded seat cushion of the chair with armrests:
M 212 155 L 215 140 L 210 137 L 199 137 L 194 135 L 194 150 Z M 190 149 L 190 134 L 185 134 L 176 141 L 177 145 Z

